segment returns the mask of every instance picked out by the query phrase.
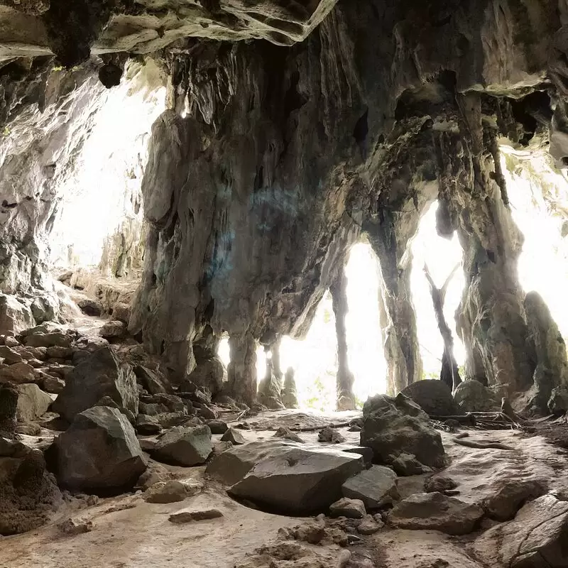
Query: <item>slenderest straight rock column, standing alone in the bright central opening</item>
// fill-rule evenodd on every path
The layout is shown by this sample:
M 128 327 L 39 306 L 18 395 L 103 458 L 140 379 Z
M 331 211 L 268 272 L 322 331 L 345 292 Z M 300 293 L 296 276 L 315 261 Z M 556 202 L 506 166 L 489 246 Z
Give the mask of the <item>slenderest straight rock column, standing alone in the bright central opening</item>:
M 337 410 L 355 410 L 353 394 L 355 378 L 353 373 L 349 371 L 347 359 L 345 317 L 349 312 L 349 307 L 347 305 L 347 277 L 343 266 L 339 269 L 329 291 L 332 293 L 337 336 Z

